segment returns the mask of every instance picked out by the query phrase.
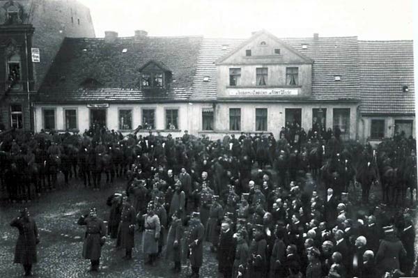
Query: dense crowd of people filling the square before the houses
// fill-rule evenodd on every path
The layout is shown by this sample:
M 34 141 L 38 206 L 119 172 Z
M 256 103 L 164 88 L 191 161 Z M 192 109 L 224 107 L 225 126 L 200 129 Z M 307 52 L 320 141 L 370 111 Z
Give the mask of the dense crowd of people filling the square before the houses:
M 364 209 L 358 210 L 357 199 L 347 191 L 355 184 L 357 169 L 378 163 L 376 151 L 370 145 L 343 142 L 332 130 L 326 138 L 315 131 L 304 139 L 290 131 L 286 134 L 284 128 L 277 140 L 272 134 L 242 133 L 211 141 L 187 131 L 173 139 L 152 131 L 146 137 L 136 132 L 124 137 L 93 128 L 83 135 L 41 133 L 3 139 L 1 149 L 12 157 L 24 152 L 23 161 L 32 152 L 33 162 L 37 149 L 45 150 L 47 156 L 60 157 L 61 165 L 70 166 L 65 173 L 81 176 L 86 186 L 91 178 L 81 168 L 87 165 L 94 180 L 91 187 L 97 189 L 97 175 L 107 171 L 102 162 L 107 155 L 110 176 L 127 178 L 126 190 L 107 199 L 107 229 L 95 208 L 79 219 L 86 225 L 83 255 L 91 260 L 92 271 L 99 269 L 107 236 L 116 238 L 116 245 L 125 249 L 124 258 L 131 259 L 139 231 L 144 263 L 155 265 L 164 255 L 173 261 L 173 272 L 189 263 L 191 277 L 199 277 L 203 242 L 210 245 L 225 278 L 411 276 L 411 211 L 389 214 L 383 203 L 367 206 L 368 196 Z M 390 140 L 393 146 L 415 150 L 412 139 Z M 74 150 L 78 167 L 64 162 Z M 80 153 L 91 157 L 91 163 L 80 164 Z M 95 173 L 100 163 L 104 166 Z M 354 171 L 343 176 L 348 167 Z M 321 174 L 324 169 L 333 169 L 328 179 Z M 6 165 L 2 173 L 7 177 L 9 172 Z M 335 182 L 337 178 L 341 182 Z M 39 240 L 36 224 L 29 219 L 24 210 L 12 226 L 24 231 L 28 229 L 22 227 L 31 226 L 33 235 L 26 240 L 33 239 L 33 247 Z M 26 256 L 17 254 L 15 262 L 24 261 L 30 275 Z

